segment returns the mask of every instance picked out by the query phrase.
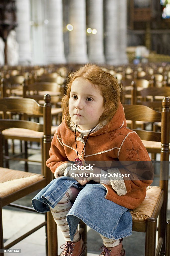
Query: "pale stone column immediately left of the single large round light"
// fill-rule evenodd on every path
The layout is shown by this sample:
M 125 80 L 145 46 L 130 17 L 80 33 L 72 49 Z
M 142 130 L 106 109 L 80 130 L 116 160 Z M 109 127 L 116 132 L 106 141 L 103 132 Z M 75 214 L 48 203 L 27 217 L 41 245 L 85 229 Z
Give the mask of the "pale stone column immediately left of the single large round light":
M 46 1 L 46 61 L 47 63 L 65 63 L 63 41 L 62 0 Z

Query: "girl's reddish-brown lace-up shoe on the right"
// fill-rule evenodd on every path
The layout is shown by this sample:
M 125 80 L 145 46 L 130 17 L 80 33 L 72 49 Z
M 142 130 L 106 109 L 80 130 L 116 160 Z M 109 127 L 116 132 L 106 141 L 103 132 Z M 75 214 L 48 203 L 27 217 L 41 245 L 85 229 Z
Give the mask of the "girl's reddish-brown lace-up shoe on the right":
M 100 247 L 100 249 L 103 249 L 103 251 L 99 256 L 126 256 L 126 252 L 123 248 L 121 240 L 120 244 L 116 247 L 108 248 L 103 245 L 102 247 Z

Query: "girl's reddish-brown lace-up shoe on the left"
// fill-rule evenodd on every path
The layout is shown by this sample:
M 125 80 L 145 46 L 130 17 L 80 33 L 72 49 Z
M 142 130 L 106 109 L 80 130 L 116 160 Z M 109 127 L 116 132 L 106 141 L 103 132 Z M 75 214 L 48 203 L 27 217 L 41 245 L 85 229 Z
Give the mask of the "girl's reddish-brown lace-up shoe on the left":
M 64 247 L 62 247 L 64 246 Z M 80 234 L 80 240 L 78 242 L 68 241 L 63 244 L 60 248 L 64 249 L 61 256 L 84 256 L 86 253 L 86 247 Z

